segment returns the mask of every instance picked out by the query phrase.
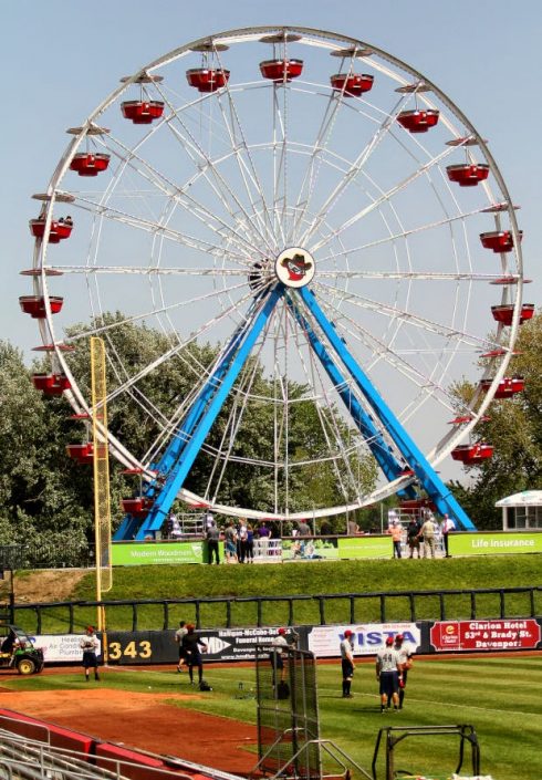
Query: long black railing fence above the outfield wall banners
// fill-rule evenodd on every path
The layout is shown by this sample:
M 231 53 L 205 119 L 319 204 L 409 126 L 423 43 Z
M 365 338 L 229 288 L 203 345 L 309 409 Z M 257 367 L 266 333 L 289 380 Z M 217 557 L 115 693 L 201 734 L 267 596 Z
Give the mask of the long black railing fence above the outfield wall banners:
M 112 631 L 168 631 L 179 618 L 198 630 L 269 625 L 334 625 L 525 618 L 542 615 L 542 586 L 448 591 L 334 593 L 325 595 L 220 596 L 13 604 L 11 622 L 33 634 L 72 634 L 94 623 L 105 607 Z M 0 612 L 8 612 L 0 604 Z

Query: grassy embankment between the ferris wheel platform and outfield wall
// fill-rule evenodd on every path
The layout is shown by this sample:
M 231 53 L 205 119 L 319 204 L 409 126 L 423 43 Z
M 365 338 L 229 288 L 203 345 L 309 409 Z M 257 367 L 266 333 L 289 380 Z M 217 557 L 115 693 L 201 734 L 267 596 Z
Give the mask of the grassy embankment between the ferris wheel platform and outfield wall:
M 522 587 L 542 584 L 542 560 L 540 555 L 494 555 L 457 558 L 447 560 L 402 561 L 317 561 L 312 563 L 288 563 L 278 565 L 157 565 L 115 569 L 113 589 L 103 595 L 105 601 L 144 601 L 206 597 L 237 597 L 247 601 L 231 605 L 232 625 L 256 625 L 258 613 L 253 596 L 314 596 L 330 593 L 375 594 L 355 600 L 355 622 L 381 620 L 382 592 L 449 591 L 471 589 Z M 21 572 L 21 576 L 24 573 Z M 17 585 L 15 585 L 17 592 Z M 75 586 L 65 600 L 94 601 L 95 576 L 93 572 Z M 535 594 L 535 614 L 542 614 L 542 592 Z M 416 618 L 439 617 L 438 596 L 416 597 Z M 449 595 L 444 600 L 446 617 L 468 620 L 471 616 L 469 594 Z M 478 617 L 499 617 L 499 594 L 479 595 L 476 600 Z M 350 622 L 351 602 L 336 599 L 325 606 L 326 623 Z M 513 594 L 505 599 L 507 616 L 529 616 L 531 604 L 528 594 Z M 107 607 L 110 630 L 132 628 L 132 607 L 118 605 Z M 184 617 L 195 620 L 195 607 L 189 604 L 169 606 L 169 625 Z M 35 615 L 19 611 L 17 621 L 31 628 Z M 83 626 L 95 620 L 94 607 L 76 607 L 76 625 Z M 410 620 L 410 602 L 405 595 L 386 601 L 386 620 Z M 65 631 L 66 607 L 48 609 L 43 615 L 43 632 Z M 202 604 L 200 621 L 205 627 L 226 625 L 223 604 Z M 286 601 L 265 602 L 262 623 L 280 625 L 289 622 Z M 308 597 L 294 604 L 293 622 L 298 625 L 320 623 L 319 602 Z M 138 628 L 160 630 L 164 626 L 164 607 L 146 605 L 138 607 Z M 33 630 L 33 628 L 32 628 Z

